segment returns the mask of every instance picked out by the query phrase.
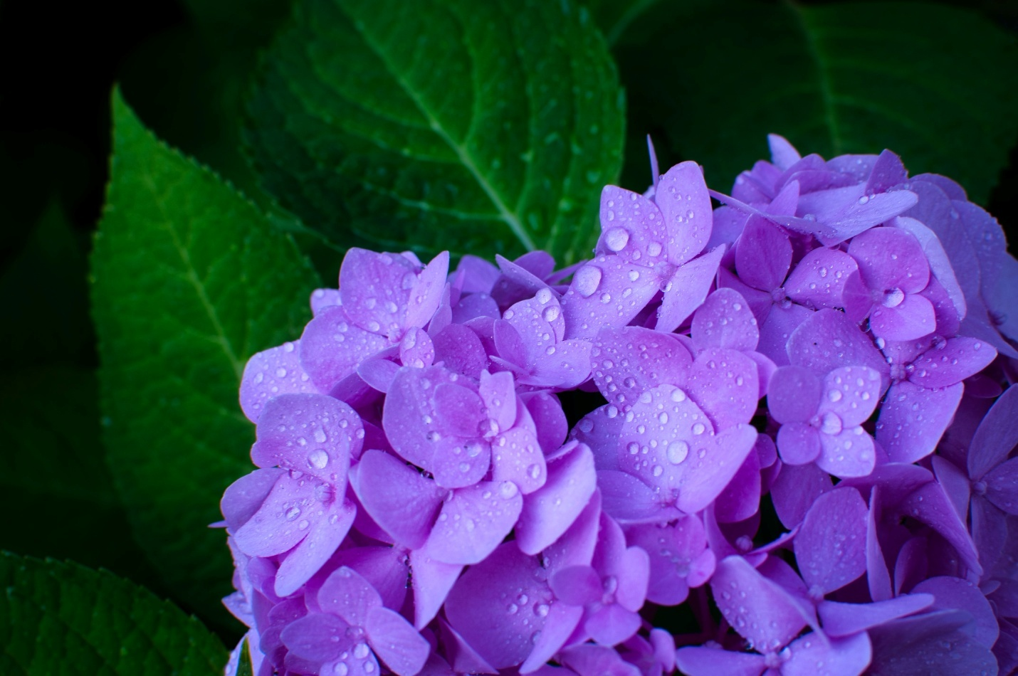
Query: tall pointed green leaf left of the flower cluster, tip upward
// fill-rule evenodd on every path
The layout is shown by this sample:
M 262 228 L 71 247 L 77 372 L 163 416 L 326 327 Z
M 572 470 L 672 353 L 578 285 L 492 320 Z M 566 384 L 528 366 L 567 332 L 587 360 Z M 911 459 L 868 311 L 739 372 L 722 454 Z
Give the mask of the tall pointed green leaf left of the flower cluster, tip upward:
M 318 284 L 292 240 L 162 145 L 119 94 L 93 252 L 104 437 L 135 537 L 186 605 L 226 615 L 223 490 L 253 469 L 237 403 L 247 357 L 296 338 Z

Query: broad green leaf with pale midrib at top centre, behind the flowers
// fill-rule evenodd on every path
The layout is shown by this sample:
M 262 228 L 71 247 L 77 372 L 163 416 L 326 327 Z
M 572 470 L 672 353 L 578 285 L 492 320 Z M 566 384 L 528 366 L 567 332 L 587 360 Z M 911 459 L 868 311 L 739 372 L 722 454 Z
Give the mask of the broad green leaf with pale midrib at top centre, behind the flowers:
M 247 138 L 265 187 L 343 246 L 568 263 L 597 239 L 623 108 L 569 0 L 306 0 Z

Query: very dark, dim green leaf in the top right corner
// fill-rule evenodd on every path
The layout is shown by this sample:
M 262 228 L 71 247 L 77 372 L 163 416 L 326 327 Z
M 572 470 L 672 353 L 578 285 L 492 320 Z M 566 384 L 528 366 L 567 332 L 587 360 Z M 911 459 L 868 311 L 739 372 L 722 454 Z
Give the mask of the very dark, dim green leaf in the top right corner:
M 667 160 L 700 162 L 720 189 L 776 132 L 825 157 L 889 148 L 984 203 L 1018 138 L 1015 38 L 961 8 L 660 3 L 616 55 L 633 134 L 663 127 Z M 645 186 L 645 154 L 632 159 Z

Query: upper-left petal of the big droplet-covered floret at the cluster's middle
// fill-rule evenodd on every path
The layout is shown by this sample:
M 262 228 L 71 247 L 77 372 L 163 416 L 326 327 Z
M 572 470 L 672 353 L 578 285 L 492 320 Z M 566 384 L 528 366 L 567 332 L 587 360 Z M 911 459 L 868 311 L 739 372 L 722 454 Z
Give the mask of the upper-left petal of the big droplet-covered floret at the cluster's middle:
M 678 340 L 642 327 L 602 329 L 590 356 L 593 382 L 606 399 L 619 406 L 658 385 L 685 386 L 692 363 L 689 350 Z

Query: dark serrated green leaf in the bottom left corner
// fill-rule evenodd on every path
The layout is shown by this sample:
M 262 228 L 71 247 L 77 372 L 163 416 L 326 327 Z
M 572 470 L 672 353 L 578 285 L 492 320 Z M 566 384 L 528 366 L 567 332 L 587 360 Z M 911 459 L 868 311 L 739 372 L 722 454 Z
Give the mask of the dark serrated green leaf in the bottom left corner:
M 194 617 L 76 563 L 0 552 L 0 672 L 222 674 L 227 653 Z

